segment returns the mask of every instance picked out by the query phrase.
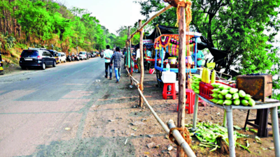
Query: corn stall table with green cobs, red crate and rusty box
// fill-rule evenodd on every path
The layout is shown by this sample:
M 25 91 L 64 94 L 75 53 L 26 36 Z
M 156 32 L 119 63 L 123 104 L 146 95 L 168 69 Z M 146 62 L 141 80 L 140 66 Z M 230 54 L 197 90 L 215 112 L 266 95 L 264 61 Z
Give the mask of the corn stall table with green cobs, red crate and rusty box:
M 237 76 L 236 84 L 216 82 L 215 76 L 215 70 L 210 75 L 209 69 L 207 68 L 204 68 L 201 77 L 199 75 L 193 75 L 192 88 L 196 93 L 192 125 L 193 127 L 191 128 L 191 130 L 194 132 L 193 135 L 197 136 L 197 133 L 201 132 L 201 124 L 197 124 L 198 100 L 199 98 L 201 98 L 209 105 L 214 105 L 225 110 L 223 126 L 227 127 L 228 129 L 225 132 L 227 135 L 223 135 L 222 140 L 226 145 L 228 145 L 230 156 L 235 156 L 236 146 L 242 147 L 251 152 L 248 149 L 248 141 L 247 147 L 244 147 L 236 141 L 238 138 L 237 136 L 240 136 L 240 134 L 238 134 L 234 130 L 234 128 L 236 128 L 236 126 L 234 126 L 233 124 L 232 118 L 232 112 L 234 109 L 248 110 L 246 120 L 244 119 L 246 121 L 244 128 L 246 128 L 246 125 L 250 125 L 258 129 L 258 131 L 253 131 L 254 129 L 251 129 L 253 132 L 258 134 L 258 136 L 255 137 L 255 140 L 257 142 L 261 142 L 259 137 L 267 137 L 269 130 L 267 126 L 272 126 L 275 156 L 280 156 L 279 120 L 277 114 L 277 107 L 280 106 L 280 101 L 271 98 L 272 75 L 239 75 Z M 256 119 L 248 119 L 250 110 L 257 110 Z M 268 122 L 268 110 L 270 110 L 271 113 L 272 123 Z M 254 124 L 249 121 L 254 121 Z M 216 133 L 214 133 L 213 137 L 215 135 Z M 217 149 L 217 147 L 221 147 L 219 145 L 216 145 L 216 140 L 211 140 L 210 138 L 205 139 L 202 133 L 198 135 L 197 139 L 201 139 L 201 143 L 215 143 L 211 146 L 209 146 L 208 143 L 208 145 L 205 147 L 214 147 L 214 149 Z M 202 146 L 204 145 L 202 144 Z

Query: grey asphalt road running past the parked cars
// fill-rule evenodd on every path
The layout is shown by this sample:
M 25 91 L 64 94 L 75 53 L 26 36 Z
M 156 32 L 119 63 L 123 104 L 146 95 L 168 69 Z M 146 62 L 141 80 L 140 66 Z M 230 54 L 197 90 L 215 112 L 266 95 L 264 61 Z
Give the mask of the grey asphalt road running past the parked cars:
M 109 81 L 101 58 L 0 76 L 0 156 L 103 156 L 83 134 Z

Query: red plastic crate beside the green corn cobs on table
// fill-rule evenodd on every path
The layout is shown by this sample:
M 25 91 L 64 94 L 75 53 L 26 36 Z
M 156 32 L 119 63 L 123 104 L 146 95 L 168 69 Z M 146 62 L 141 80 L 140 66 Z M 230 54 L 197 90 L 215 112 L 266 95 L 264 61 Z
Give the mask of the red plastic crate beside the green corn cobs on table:
M 218 82 L 216 81 L 216 83 L 220 83 L 220 84 L 225 84 L 223 82 Z M 232 87 L 232 88 L 236 88 L 236 85 L 235 84 L 225 84 L 229 87 Z M 211 84 L 207 84 L 207 83 L 204 83 L 204 82 L 200 82 L 200 96 L 203 96 L 204 98 L 207 98 L 207 99 L 212 99 L 213 96 L 211 96 L 211 94 L 213 94 L 213 90 L 214 87 L 211 85 Z

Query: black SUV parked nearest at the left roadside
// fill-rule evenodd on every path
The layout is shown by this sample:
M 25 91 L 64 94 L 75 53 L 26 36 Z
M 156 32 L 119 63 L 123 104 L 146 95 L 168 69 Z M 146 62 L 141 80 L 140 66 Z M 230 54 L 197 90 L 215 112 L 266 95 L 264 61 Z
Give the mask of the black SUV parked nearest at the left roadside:
M 57 65 L 55 57 L 46 50 L 23 50 L 20 55 L 20 67 L 39 67 L 45 70 L 46 66 Z

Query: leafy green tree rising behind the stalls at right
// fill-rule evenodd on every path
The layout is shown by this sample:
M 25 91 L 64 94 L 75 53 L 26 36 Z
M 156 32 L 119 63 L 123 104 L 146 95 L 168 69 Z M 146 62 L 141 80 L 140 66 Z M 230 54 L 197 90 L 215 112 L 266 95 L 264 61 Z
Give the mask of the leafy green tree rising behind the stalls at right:
M 138 1 L 142 15 L 160 10 L 160 0 Z M 208 44 L 228 52 L 224 59 L 228 73 L 238 66 L 239 73 L 259 73 L 270 70 L 276 58 L 271 43 L 279 31 L 279 0 L 193 0 L 191 26 L 208 39 Z M 167 10 L 154 23 L 174 26 L 176 8 Z

